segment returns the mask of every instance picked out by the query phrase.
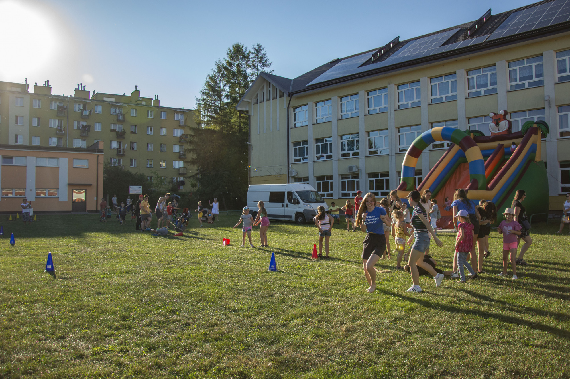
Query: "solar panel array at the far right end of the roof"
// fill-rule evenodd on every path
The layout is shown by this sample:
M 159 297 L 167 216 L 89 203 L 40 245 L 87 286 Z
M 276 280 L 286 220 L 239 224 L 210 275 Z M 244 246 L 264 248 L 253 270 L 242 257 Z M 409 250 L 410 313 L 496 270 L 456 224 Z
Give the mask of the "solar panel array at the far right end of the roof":
M 570 0 L 555 0 L 512 13 L 489 40 L 555 25 L 570 19 Z

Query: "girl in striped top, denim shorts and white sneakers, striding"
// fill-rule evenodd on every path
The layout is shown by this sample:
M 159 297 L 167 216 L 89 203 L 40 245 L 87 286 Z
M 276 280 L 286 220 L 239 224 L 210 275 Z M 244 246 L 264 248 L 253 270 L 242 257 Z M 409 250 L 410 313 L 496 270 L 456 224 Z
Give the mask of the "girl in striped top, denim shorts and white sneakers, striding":
M 410 252 L 410 259 L 408 261 L 410 265 L 410 273 L 412 273 L 412 287 L 410 287 L 406 292 L 421 292 L 422 289 L 420 287 L 420 273 L 418 273 L 418 266 L 423 268 L 425 271 L 429 272 L 433 279 L 435 280 L 435 287 L 439 287 L 441 282 L 443 281 L 443 274 L 437 273 L 433 267 L 429 264 L 424 262 L 424 252 L 430 244 L 430 238 L 428 233 L 431 234 L 435 244 L 439 247 L 443 246 L 443 243 L 438 239 L 431 227 L 430 223 L 427 221 L 427 211 L 420 203 L 421 195 L 418 191 L 410 192 L 408 196 L 408 201 L 412 207 L 414 207 L 414 211 L 412 212 L 412 217 L 410 218 L 410 222 L 414 228 L 414 232 L 412 236 L 408 239 L 408 242 L 412 241 L 412 237 L 414 243 L 412 245 L 412 251 Z

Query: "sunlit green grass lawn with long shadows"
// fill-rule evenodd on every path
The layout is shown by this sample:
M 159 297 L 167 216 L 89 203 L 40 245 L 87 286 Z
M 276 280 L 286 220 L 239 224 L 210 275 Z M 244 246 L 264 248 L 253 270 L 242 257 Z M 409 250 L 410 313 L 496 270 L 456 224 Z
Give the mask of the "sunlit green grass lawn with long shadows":
M 314 225 L 274 222 L 269 247 L 252 249 L 238 248 L 237 215 L 158 238 L 97 219 L 2 221 L 0 377 L 570 377 L 570 236 L 557 224 L 534 225 L 518 281 L 495 277 L 492 232 L 481 279 L 422 277 L 424 292 L 406 293 L 409 274 L 381 260 L 392 272 L 370 295 L 364 235 L 338 225 L 332 259 L 312 261 Z M 451 269 L 454 236 L 441 239 L 431 254 Z

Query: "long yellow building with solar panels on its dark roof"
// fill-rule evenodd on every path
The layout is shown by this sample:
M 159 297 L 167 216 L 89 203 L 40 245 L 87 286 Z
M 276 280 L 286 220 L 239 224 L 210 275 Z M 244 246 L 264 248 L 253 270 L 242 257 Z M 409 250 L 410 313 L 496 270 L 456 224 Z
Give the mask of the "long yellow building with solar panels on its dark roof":
M 541 158 L 551 209 L 561 209 L 570 192 L 569 19 L 569 0 L 488 10 L 406 41 L 386 36 L 380 48 L 294 79 L 260 74 L 237 106 L 250 115 L 251 184 L 308 183 L 337 204 L 358 190 L 385 196 L 422 132 L 490 135 L 490 112 L 507 110 L 513 132 L 548 123 Z M 416 186 L 449 146 L 422 152 Z

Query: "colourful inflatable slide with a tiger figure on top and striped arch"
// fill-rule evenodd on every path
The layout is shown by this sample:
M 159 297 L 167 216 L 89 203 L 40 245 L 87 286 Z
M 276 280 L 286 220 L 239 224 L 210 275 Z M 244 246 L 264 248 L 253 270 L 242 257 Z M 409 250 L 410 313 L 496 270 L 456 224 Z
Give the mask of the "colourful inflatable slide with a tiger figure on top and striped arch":
M 548 213 L 548 178 L 540 158 L 541 138 L 549 133 L 544 121 L 527 121 L 520 131 L 511 132 L 508 112 L 500 111 L 489 116 L 490 136 L 481 131 L 462 131 L 438 127 L 422 133 L 408 148 L 402 163 L 402 180 L 398 196 L 404 199 L 413 190 L 431 191 L 437 199 L 442 218 L 441 228 L 453 229 L 453 210 L 446 211 L 445 198 L 453 200 L 457 188 L 463 188 L 467 197 L 478 203 L 493 201 L 502 219 L 505 208 L 511 206 L 516 190 L 525 190 L 527 216 Z M 414 172 L 422 151 L 434 142 L 451 142 L 418 188 L 414 186 Z

